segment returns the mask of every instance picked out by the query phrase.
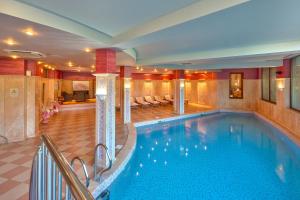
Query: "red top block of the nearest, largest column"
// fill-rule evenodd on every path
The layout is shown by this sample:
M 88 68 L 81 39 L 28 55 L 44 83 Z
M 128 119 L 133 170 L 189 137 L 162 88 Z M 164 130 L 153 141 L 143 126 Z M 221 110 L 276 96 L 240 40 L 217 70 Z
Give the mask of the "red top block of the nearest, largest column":
M 96 50 L 96 73 L 116 72 L 116 50 L 97 49 Z

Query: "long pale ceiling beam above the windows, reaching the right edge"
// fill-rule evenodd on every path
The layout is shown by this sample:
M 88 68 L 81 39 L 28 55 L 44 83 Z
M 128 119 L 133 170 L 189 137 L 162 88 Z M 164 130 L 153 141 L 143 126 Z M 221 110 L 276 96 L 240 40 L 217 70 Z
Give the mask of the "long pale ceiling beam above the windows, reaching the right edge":
M 213 51 L 196 51 L 182 54 L 172 54 L 154 58 L 138 59 L 140 65 L 159 65 L 168 63 L 192 62 L 201 60 L 214 60 L 220 58 L 237 58 L 248 56 L 263 56 L 272 54 L 293 54 L 300 53 L 300 40 L 253 45 L 239 48 L 228 48 Z

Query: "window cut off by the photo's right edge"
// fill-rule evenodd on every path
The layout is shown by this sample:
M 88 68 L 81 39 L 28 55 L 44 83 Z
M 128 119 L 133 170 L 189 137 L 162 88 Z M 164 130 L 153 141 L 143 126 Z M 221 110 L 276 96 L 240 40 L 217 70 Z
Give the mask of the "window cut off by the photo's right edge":
M 292 60 L 291 108 L 300 111 L 300 56 Z

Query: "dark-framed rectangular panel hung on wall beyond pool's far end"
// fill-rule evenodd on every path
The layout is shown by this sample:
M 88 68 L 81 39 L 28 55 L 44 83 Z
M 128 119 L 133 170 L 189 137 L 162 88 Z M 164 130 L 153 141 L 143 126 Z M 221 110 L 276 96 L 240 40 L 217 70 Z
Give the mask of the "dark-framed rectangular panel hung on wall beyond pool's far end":
M 229 98 L 243 98 L 243 73 L 230 73 L 229 75 Z

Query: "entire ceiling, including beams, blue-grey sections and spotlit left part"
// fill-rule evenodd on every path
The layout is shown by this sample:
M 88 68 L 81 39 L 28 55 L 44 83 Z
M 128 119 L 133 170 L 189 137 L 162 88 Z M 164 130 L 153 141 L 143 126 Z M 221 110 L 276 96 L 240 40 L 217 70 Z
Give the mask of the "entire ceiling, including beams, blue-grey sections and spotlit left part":
M 300 53 L 299 7 L 299 0 L 2 0 L 0 12 L 33 22 L 1 14 L 0 39 L 13 36 L 16 48 L 58 66 L 92 65 L 85 47 L 126 49 L 118 53 L 125 65 L 133 58 L 164 68 L 279 65 Z M 27 26 L 41 34 L 28 39 L 19 32 Z

